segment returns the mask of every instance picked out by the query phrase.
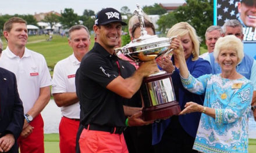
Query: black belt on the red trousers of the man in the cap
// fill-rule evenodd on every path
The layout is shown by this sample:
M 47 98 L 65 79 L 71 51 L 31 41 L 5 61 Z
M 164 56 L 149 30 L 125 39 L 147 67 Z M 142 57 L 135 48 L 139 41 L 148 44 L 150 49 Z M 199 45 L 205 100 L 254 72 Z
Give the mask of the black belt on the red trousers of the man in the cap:
M 88 129 L 89 126 L 89 129 Z M 85 129 L 87 130 L 99 130 L 99 131 L 105 131 L 115 134 L 122 134 L 125 127 L 109 127 L 109 126 L 102 126 L 102 125 L 85 125 Z

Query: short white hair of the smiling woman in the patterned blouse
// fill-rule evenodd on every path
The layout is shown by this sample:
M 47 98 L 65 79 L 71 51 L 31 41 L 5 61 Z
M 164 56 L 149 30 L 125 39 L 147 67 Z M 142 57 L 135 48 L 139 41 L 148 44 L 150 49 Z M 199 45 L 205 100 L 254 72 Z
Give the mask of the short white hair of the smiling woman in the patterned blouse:
M 235 37 L 234 35 L 226 35 L 225 37 L 221 37 L 215 43 L 215 48 L 214 48 L 215 61 L 217 61 L 219 52 L 221 52 L 221 50 L 223 49 L 232 49 L 236 51 L 238 56 L 237 64 L 239 64 L 244 57 L 243 42 L 241 42 L 241 40 Z

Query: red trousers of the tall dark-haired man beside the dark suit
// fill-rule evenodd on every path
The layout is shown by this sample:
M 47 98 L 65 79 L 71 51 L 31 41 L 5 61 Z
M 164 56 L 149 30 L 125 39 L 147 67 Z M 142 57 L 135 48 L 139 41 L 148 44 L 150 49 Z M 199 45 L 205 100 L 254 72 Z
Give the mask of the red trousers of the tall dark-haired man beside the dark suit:
M 29 124 L 34 127 L 33 132 L 26 138 L 19 136 L 17 140 L 20 153 L 44 153 L 44 121 L 41 114 Z

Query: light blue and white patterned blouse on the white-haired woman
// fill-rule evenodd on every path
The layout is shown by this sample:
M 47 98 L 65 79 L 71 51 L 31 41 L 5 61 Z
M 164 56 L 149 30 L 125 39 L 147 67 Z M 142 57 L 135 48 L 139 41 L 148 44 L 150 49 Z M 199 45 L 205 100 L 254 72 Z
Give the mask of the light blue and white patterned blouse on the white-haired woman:
M 225 79 L 207 74 L 182 78 L 184 88 L 205 93 L 204 106 L 215 109 L 215 118 L 201 115 L 193 149 L 200 152 L 248 152 L 248 112 L 253 84 L 245 77 Z

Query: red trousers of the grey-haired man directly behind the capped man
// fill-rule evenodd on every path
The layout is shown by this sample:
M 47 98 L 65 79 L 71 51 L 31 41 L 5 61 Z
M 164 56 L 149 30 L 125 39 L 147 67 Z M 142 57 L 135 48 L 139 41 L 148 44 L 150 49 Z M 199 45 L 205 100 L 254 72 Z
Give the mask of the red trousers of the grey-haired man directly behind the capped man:
M 62 117 L 59 123 L 59 149 L 61 153 L 76 152 L 76 134 L 79 129 L 79 121 Z

